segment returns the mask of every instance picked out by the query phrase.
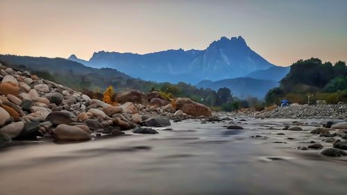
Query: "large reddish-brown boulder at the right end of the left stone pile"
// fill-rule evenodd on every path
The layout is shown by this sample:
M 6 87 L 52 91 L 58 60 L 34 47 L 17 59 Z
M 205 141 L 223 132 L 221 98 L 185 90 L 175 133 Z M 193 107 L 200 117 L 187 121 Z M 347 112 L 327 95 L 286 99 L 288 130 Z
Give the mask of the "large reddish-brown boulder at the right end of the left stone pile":
M 211 117 L 212 112 L 210 108 L 201 103 L 196 103 L 188 98 L 178 98 L 176 100 L 176 108 L 182 110 L 187 115 L 192 115 L 194 117 L 206 116 Z

